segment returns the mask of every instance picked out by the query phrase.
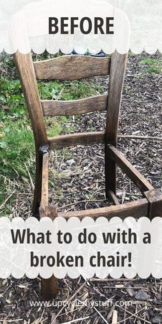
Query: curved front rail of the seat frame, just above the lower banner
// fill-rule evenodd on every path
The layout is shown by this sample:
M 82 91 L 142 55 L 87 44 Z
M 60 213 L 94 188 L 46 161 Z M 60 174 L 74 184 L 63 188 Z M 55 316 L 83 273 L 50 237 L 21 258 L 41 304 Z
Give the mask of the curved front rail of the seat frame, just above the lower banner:
M 102 207 L 97 209 L 86 209 L 84 211 L 68 211 L 65 213 L 58 213 L 58 217 L 64 217 L 69 219 L 70 217 L 78 217 L 83 219 L 84 217 L 92 217 L 94 219 L 98 217 L 106 217 L 108 220 L 117 216 L 122 219 L 126 217 L 147 217 L 148 216 L 148 200 L 146 198 L 132 201 L 123 205 Z

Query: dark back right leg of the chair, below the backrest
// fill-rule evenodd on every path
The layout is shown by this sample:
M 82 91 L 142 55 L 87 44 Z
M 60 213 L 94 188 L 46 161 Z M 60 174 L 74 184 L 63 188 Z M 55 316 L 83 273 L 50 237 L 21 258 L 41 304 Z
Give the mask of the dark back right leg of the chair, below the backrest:
M 105 145 L 105 189 L 106 199 L 109 198 L 109 190 L 111 190 L 116 196 L 116 163 L 108 157 L 107 145 Z

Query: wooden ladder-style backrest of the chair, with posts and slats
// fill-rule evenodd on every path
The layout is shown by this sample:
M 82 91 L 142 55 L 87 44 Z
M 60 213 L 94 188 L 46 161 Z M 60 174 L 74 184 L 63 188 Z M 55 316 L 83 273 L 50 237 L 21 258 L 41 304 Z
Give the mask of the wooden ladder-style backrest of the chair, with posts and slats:
M 48 146 L 51 141 L 47 137 L 44 116 L 79 115 L 102 110 L 107 111 L 106 130 L 104 134 L 101 134 L 101 132 L 89 132 L 81 134 L 80 137 L 76 134 L 60 141 L 57 146 L 59 147 L 59 144 L 60 147 L 66 146 L 66 144 L 70 146 L 74 145 L 75 142 L 77 144 L 98 143 L 103 141 L 103 139 L 105 143 L 111 143 L 116 146 L 127 54 L 119 54 L 115 51 L 111 58 L 68 55 L 33 62 L 31 53 L 21 54 L 17 51 L 14 54 L 14 60 L 19 72 L 19 78 L 32 122 L 37 149 L 41 146 Z M 79 80 L 108 74 L 110 74 L 110 82 L 109 91 L 106 95 L 97 95 L 95 97 L 74 101 L 40 100 L 37 79 Z

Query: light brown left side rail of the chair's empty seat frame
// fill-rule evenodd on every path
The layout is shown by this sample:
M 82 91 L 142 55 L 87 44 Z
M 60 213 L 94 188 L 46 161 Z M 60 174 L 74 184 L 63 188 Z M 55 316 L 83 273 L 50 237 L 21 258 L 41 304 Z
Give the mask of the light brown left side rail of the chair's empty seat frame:
M 43 154 L 43 170 L 42 170 L 42 192 L 40 207 L 48 206 L 48 163 L 49 154 Z

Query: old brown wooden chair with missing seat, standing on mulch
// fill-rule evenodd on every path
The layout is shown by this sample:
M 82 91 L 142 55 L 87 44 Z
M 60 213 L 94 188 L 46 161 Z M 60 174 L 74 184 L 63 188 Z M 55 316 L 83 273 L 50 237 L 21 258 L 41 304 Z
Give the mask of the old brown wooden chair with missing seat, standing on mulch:
M 23 55 L 19 51 L 14 54 L 16 67 L 23 87 L 36 146 L 36 183 L 34 193 L 33 213 L 35 216 L 85 216 L 97 218 L 104 216 L 108 219 L 119 216 L 140 218 L 146 216 L 162 216 L 162 194 L 133 167 L 117 150 L 117 128 L 121 105 L 124 73 L 127 54 L 118 54 L 111 58 L 95 58 L 90 56 L 62 56 L 50 60 L 33 62 L 32 54 Z M 76 101 L 40 100 L 38 95 L 38 80 L 78 80 L 91 76 L 110 74 L 108 95 L 97 95 Z M 72 135 L 47 137 L 44 116 L 78 115 L 93 111 L 107 111 L 106 130 L 104 132 L 83 132 Z M 78 146 L 92 143 L 103 143 L 105 146 L 105 186 L 106 198 L 111 198 L 114 205 L 99 209 L 57 213 L 56 207 L 48 203 L 48 159 L 49 150 Z M 119 205 L 116 197 L 116 165 L 141 190 L 143 198 L 131 203 Z M 56 279 L 43 279 L 43 293 L 46 299 L 56 293 Z

